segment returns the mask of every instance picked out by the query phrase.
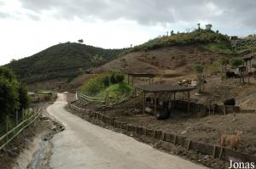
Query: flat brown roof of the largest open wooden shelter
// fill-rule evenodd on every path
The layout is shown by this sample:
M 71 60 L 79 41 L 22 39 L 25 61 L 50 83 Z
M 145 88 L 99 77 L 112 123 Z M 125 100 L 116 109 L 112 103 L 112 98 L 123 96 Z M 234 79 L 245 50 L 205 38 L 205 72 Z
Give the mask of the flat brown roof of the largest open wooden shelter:
M 172 84 L 151 84 L 151 85 L 137 86 L 137 88 L 150 93 L 187 92 L 195 89 L 195 87 L 184 87 L 184 86 L 172 85 Z

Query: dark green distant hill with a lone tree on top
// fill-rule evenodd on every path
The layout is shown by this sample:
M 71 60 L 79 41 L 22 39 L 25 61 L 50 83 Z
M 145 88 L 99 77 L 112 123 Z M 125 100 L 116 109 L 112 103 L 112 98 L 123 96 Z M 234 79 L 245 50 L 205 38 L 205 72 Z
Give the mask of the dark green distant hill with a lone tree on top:
M 103 49 L 76 42 L 57 44 L 24 59 L 15 60 L 7 65 L 15 75 L 26 83 L 50 79 L 78 76 L 79 71 L 88 70 L 96 65 L 93 57 L 102 56 L 99 64 L 115 59 L 125 49 Z M 81 72 L 80 72 L 81 73 Z

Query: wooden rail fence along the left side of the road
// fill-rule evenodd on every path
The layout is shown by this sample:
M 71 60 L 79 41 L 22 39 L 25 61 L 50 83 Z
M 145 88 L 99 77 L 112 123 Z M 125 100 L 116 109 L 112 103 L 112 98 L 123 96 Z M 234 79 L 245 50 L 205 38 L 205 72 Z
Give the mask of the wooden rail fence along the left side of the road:
M 20 132 L 22 132 L 26 127 L 30 126 L 34 121 L 36 121 L 41 115 L 41 110 L 42 109 L 39 108 L 36 113 L 21 121 L 14 128 L 9 128 L 9 126 L 6 125 L 6 133 L 4 133 L 3 136 L 0 137 L 0 150 L 3 149 L 4 146 L 9 144 L 9 142 L 11 142 L 16 136 L 18 136 Z

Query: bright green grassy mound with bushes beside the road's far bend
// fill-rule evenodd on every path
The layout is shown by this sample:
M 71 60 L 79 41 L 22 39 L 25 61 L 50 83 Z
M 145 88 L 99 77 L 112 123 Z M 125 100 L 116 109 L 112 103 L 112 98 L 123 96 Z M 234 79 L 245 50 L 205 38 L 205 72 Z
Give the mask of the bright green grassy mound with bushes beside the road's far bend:
M 131 94 L 131 86 L 124 82 L 124 75 L 119 72 L 100 74 L 84 82 L 81 92 L 85 95 L 104 98 L 109 94 L 110 99 L 117 99 Z

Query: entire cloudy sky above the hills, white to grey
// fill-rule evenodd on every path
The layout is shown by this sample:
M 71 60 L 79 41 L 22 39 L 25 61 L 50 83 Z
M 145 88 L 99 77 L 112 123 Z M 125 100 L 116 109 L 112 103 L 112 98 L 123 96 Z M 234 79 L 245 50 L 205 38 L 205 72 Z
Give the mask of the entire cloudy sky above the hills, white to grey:
M 255 16 L 256 0 L 0 0 L 0 65 L 59 42 L 126 48 L 197 23 L 246 36 Z

